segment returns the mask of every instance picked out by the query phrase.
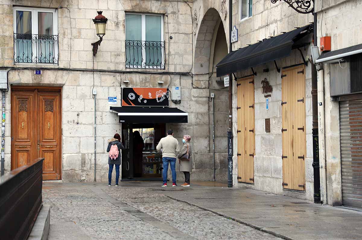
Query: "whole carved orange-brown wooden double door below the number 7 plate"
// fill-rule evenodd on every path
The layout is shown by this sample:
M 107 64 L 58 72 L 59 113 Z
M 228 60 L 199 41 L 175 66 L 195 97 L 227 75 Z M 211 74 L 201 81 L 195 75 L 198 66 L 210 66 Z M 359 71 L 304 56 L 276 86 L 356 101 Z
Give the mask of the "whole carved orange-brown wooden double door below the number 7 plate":
M 11 169 L 44 157 L 43 180 L 62 178 L 61 101 L 60 88 L 12 88 Z

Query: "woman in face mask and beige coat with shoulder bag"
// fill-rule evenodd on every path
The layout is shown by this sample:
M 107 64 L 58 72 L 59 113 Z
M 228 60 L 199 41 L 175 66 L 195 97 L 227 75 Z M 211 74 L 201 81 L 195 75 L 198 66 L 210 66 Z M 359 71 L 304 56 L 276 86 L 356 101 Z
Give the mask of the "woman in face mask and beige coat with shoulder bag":
M 192 152 L 190 144 L 191 136 L 185 135 L 182 142 L 184 147 L 182 147 L 180 153 L 178 154 L 178 163 L 180 163 L 180 172 L 185 174 L 185 183 L 181 184 L 182 187 L 190 187 L 190 172 L 192 171 Z

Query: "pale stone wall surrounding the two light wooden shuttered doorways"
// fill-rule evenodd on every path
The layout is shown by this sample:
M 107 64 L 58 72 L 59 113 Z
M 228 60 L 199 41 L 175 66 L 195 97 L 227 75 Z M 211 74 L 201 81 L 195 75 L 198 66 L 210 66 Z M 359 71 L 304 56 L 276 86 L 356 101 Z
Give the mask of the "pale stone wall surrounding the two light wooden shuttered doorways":
M 250 15 L 250 14 L 249 14 Z M 241 19 L 239 1 L 233 1 L 233 25 L 236 25 L 239 33 L 239 40 L 233 43 L 233 51 L 238 48 L 247 47 L 248 44 L 255 44 L 263 39 L 270 39 L 274 36 L 289 32 L 298 27 L 303 27 L 310 22 L 313 22 L 313 15 L 301 14 L 290 8 L 288 4 L 283 1 L 277 1 L 273 4 L 270 1 L 252 1 L 252 16 Z M 308 44 L 312 43 L 312 34 L 308 35 Z M 308 61 L 310 53 L 310 46 L 301 48 L 304 58 Z M 297 50 L 291 51 L 290 56 L 276 60 L 277 66 L 281 69 L 277 71 L 274 62 L 268 62 L 257 67 L 254 71 L 257 75 L 253 76 L 254 80 L 254 138 L 255 138 L 255 152 L 253 153 L 254 164 L 254 177 L 252 184 L 241 182 L 238 177 L 238 93 L 236 82 L 233 84 L 233 184 L 238 187 L 248 187 L 274 194 L 283 194 L 303 198 L 313 201 L 313 148 L 312 148 L 312 96 L 311 96 L 311 64 L 308 62 L 304 66 L 304 79 L 305 79 L 305 140 L 298 142 L 304 145 L 306 155 L 304 156 L 304 175 L 305 182 L 300 183 L 304 185 L 304 189 L 299 188 L 288 189 L 289 187 L 283 186 L 283 143 L 282 136 L 286 132 L 281 131 L 284 107 L 282 103 L 282 77 L 285 71 L 290 66 L 299 65 L 303 63 L 302 55 Z M 303 65 L 303 64 L 302 64 Z M 299 65 L 299 66 L 302 66 Z M 264 69 L 267 69 L 264 71 Z M 252 75 L 252 70 L 240 71 L 236 77 Z M 271 96 L 268 97 L 269 109 L 266 109 L 266 98 L 263 93 L 262 81 L 267 79 L 272 87 Z M 270 132 L 266 132 L 265 119 L 270 119 Z M 284 127 L 285 128 L 285 127 Z M 289 129 L 288 129 L 289 131 Z M 289 156 L 290 157 L 290 156 Z M 239 161 L 240 163 L 240 161 Z

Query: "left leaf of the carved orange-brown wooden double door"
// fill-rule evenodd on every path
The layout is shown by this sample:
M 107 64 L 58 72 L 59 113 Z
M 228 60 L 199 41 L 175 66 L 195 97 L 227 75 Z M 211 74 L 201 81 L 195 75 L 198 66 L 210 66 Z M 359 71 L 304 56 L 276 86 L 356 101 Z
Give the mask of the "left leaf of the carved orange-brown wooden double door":
M 13 170 L 31 163 L 36 158 L 34 148 L 34 91 L 13 92 L 11 102 L 11 169 Z

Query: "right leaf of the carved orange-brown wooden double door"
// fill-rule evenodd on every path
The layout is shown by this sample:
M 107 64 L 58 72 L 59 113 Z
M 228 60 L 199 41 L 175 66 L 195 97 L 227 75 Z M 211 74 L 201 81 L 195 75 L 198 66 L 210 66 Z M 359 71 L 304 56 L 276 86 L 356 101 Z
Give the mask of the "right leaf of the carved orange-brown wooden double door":
M 60 93 L 38 90 L 38 157 L 44 157 L 43 179 L 60 179 Z

